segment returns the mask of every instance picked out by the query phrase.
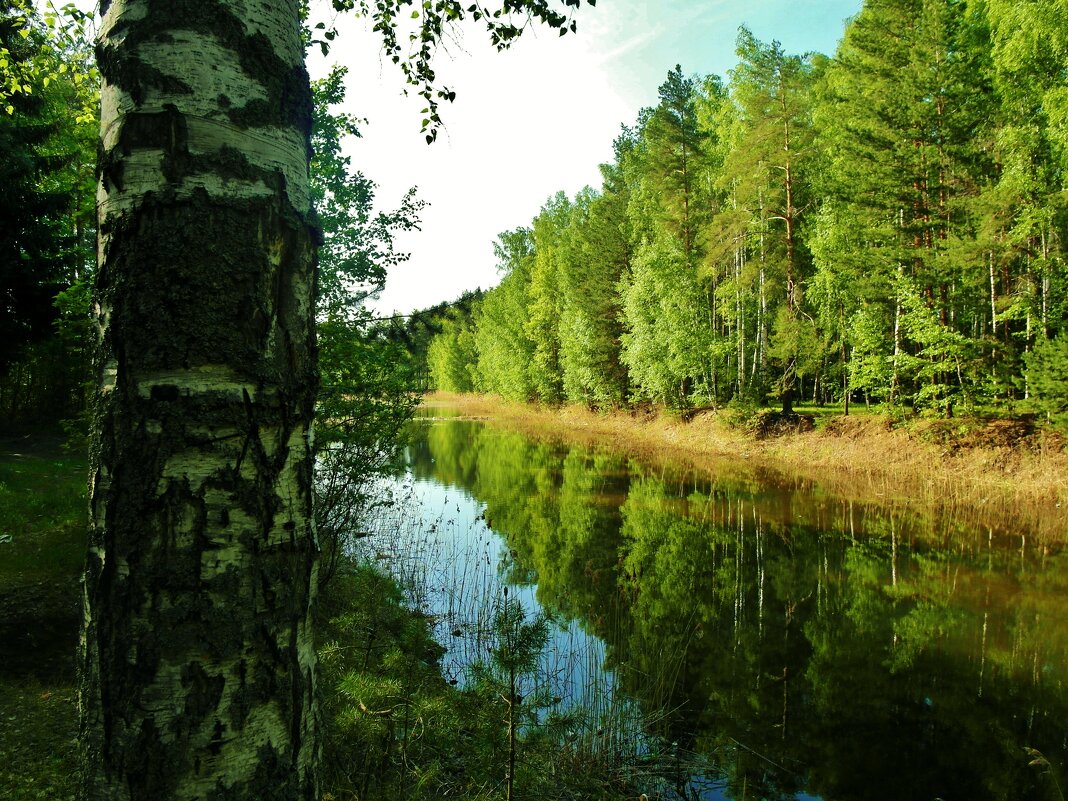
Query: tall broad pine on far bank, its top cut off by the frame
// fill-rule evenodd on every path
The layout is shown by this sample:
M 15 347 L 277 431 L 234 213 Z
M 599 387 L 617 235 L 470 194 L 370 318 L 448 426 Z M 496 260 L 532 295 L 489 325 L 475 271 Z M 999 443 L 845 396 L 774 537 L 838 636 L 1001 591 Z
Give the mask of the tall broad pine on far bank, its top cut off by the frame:
M 943 410 L 967 399 L 975 358 L 974 302 L 958 294 L 975 281 L 955 276 L 949 257 L 968 236 L 965 201 L 981 174 L 970 98 L 983 75 L 962 58 L 962 30 L 949 0 L 868 2 L 846 31 L 819 110 L 834 156 L 813 249 L 824 299 L 844 307 L 823 318 L 850 320 L 842 326 L 849 382 Z M 845 276 L 860 280 L 847 287 L 836 278 Z M 945 331 L 932 335 L 931 325 Z

